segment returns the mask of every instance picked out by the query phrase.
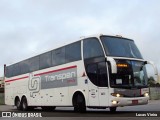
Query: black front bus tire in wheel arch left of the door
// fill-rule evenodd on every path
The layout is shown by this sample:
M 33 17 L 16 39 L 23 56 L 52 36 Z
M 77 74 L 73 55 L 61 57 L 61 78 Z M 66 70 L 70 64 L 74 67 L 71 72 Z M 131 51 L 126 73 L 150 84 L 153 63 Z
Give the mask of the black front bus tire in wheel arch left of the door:
M 73 101 L 73 106 L 75 112 L 80 112 L 80 113 L 86 112 L 86 104 L 84 96 L 78 94 Z

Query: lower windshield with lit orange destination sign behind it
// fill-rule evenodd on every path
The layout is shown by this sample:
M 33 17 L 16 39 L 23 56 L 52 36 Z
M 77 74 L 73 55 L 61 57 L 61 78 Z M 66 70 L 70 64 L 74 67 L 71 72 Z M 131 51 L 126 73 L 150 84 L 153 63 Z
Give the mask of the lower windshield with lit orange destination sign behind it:
M 111 74 L 110 85 L 113 88 L 144 88 L 148 77 L 144 62 L 116 60 L 117 74 Z

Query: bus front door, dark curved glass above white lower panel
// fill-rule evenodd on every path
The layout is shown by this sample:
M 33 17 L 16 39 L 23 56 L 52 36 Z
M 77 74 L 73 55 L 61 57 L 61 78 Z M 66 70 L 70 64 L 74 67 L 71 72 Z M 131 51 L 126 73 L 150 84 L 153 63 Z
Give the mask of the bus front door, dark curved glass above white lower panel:
M 108 106 L 108 77 L 105 62 L 87 65 L 89 106 Z

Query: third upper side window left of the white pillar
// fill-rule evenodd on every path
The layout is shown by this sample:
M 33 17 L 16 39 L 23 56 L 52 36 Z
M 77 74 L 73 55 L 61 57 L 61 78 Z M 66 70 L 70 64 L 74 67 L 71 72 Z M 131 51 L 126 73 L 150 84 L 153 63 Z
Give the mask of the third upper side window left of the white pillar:
M 51 60 L 52 60 L 52 54 L 51 52 L 44 53 L 40 55 L 40 69 L 48 68 L 51 66 Z

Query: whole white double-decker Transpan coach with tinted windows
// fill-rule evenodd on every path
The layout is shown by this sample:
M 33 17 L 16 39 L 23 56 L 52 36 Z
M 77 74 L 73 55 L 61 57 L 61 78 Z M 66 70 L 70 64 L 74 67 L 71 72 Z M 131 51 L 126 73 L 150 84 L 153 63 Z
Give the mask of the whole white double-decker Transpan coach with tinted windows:
M 77 112 L 87 107 L 114 112 L 120 106 L 147 104 L 145 65 L 150 63 L 131 39 L 102 34 L 84 37 L 6 65 L 5 104 L 19 110 L 73 106 Z

